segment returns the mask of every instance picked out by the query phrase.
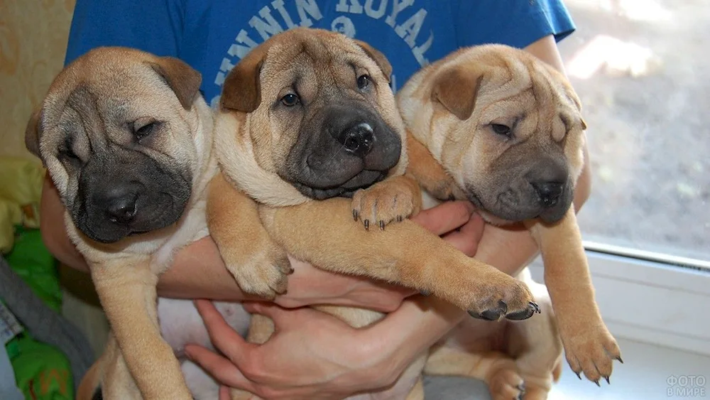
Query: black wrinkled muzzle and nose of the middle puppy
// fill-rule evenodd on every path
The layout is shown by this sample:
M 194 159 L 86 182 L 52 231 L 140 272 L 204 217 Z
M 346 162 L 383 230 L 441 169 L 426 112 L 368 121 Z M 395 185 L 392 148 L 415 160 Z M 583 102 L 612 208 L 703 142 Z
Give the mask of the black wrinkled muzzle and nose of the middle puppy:
M 371 79 L 362 75 L 357 87 L 374 90 Z M 315 96 L 307 85 L 300 87 L 300 96 L 289 93 L 282 100 L 286 107 L 300 107 L 298 136 L 304 140 L 288 153 L 281 177 L 315 200 L 351 197 L 383 180 L 399 161 L 399 134 L 362 98 L 329 87 Z

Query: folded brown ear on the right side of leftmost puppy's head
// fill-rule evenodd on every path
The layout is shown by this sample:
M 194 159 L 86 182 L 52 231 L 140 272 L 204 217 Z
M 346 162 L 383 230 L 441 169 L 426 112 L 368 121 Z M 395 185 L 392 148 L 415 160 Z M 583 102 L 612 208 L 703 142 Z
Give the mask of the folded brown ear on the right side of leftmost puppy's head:
M 175 92 L 182 107 L 191 109 L 195 97 L 200 92 L 200 84 L 202 84 L 200 72 L 175 57 L 160 57 L 155 63 L 151 63 L 151 67 Z

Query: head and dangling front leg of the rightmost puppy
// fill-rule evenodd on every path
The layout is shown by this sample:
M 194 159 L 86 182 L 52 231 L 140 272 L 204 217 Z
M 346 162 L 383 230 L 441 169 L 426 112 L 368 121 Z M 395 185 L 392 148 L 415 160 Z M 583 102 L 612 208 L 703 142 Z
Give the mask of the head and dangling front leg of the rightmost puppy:
M 413 136 L 408 171 L 439 200 L 471 200 L 493 224 L 525 222 L 570 367 L 608 379 L 620 350 L 596 306 L 571 207 L 586 126 L 569 82 L 523 50 L 484 45 L 423 68 L 397 99 Z M 527 339 L 533 348 L 544 340 Z

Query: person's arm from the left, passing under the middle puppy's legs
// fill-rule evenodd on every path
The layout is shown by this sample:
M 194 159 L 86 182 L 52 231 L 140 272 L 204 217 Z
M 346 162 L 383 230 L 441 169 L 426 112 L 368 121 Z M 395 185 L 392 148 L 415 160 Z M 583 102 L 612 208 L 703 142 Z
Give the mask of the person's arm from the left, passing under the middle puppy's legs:
M 40 231 L 50 252 L 68 266 L 88 271 L 86 261 L 67 236 L 65 208 L 49 178 L 45 179 L 43 185 L 40 212 Z M 468 220 L 470 214 L 471 207 L 466 203 L 449 202 L 420 213 L 418 218 L 431 229 L 440 231 L 442 226 L 461 225 L 462 218 Z M 482 225 L 480 220 L 474 222 Z M 449 239 L 458 242 L 461 248 L 470 254 L 475 252 L 478 242 L 477 237 L 471 237 L 465 230 L 452 233 Z M 388 283 L 359 276 L 334 274 L 293 259 L 291 262 L 295 271 L 289 276 L 288 291 L 276 299 L 276 303 L 281 306 L 330 303 L 390 312 L 400 306 L 405 296 L 412 293 L 409 289 Z M 224 301 L 257 299 L 241 291 L 226 270 L 217 246 L 210 237 L 200 239 L 175 254 L 173 265 L 158 280 L 158 294 L 174 298 L 210 298 Z

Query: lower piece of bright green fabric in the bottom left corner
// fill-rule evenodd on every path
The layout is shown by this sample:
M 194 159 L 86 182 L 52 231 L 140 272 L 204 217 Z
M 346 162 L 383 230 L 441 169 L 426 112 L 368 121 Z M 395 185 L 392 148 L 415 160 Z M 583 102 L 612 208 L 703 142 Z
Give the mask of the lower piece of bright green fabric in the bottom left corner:
M 7 348 L 15 370 L 17 387 L 27 400 L 72 400 L 74 381 L 67 357 L 26 333 L 11 340 Z

